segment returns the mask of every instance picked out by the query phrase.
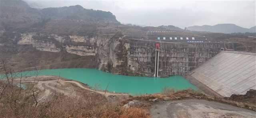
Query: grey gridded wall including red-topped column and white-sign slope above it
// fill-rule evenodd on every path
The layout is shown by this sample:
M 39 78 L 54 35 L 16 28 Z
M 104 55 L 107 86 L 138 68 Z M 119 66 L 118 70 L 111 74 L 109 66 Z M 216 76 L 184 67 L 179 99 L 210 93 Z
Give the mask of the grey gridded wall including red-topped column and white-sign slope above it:
M 116 50 L 122 52 L 117 55 L 127 54 L 127 56 L 116 59 L 123 62 L 123 65 L 114 66 L 112 72 L 120 74 L 122 73 L 120 70 L 125 70 L 127 74 L 151 77 L 186 75 L 222 49 L 236 50 L 239 46 L 236 43 L 216 42 L 203 36 L 186 36 L 182 32 L 172 31 L 149 31 L 145 39 L 125 36 L 118 42 L 123 46 L 116 46 L 118 48 Z M 160 45 L 157 51 L 156 44 Z M 126 50 L 120 48 L 124 46 Z M 112 62 L 115 63 L 113 60 Z

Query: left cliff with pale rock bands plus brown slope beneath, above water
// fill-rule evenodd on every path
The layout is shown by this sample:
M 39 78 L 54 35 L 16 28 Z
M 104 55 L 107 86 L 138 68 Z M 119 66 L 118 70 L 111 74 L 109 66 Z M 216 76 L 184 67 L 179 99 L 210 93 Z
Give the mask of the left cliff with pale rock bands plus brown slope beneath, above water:
M 0 59 L 16 71 L 24 68 L 98 68 L 97 50 L 100 44 L 106 43 L 104 36 L 89 38 L 31 32 L 14 37 L 12 40 L 17 42 L 0 43 Z M 2 66 L 0 64 L 0 72 Z

